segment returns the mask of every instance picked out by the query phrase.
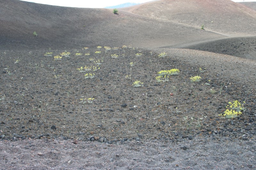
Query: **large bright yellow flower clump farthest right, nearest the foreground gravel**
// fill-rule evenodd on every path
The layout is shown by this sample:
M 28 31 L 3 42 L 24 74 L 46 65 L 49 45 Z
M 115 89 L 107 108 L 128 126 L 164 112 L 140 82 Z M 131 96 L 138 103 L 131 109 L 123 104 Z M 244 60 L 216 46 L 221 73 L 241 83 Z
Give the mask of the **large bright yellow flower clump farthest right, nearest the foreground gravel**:
M 220 114 L 219 116 L 224 116 L 226 118 L 232 118 L 237 117 L 238 115 L 241 115 L 242 112 L 244 112 L 246 109 L 244 108 L 244 103 L 241 104 L 238 100 L 233 101 L 233 103 L 228 102 L 228 105 L 226 106 L 226 111 L 224 114 Z M 230 110 L 229 110 L 230 108 Z

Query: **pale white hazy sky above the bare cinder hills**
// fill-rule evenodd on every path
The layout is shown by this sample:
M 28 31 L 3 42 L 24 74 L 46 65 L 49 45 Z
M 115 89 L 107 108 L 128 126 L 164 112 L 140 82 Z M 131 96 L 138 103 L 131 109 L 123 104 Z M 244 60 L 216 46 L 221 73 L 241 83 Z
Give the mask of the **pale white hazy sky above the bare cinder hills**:
M 144 3 L 150 0 L 23 0 L 39 4 L 49 4 L 57 6 L 81 7 L 81 8 L 104 8 L 124 4 L 126 2 Z M 234 2 L 253 2 L 256 0 L 233 0 Z

